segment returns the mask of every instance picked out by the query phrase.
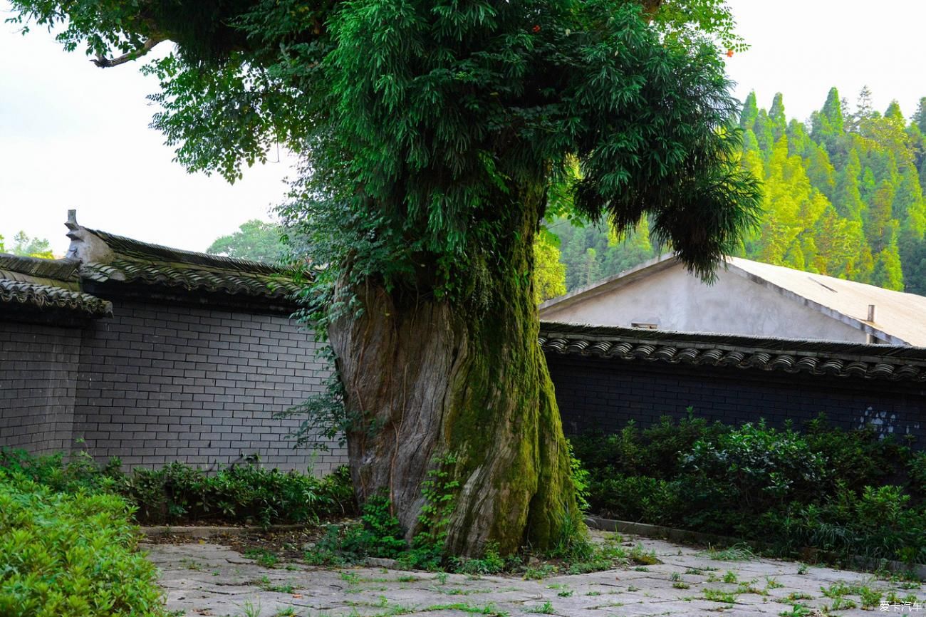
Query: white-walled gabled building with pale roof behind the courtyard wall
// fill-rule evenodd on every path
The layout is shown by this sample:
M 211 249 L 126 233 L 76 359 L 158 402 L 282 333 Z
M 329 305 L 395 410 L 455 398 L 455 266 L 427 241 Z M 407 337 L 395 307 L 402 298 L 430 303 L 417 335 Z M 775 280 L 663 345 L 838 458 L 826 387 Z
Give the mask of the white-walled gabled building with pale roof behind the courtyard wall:
M 672 256 L 547 300 L 545 321 L 926 346 L 926 297 L 743 258 L 703 283 Z

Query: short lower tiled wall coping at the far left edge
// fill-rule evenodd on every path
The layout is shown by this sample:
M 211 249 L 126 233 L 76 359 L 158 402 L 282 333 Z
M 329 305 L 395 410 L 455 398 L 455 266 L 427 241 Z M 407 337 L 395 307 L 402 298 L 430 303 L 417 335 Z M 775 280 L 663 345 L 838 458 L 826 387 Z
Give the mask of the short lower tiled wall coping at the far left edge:
M 57 308 L 90 317 L 112 315 L 112 304 L 81 292 L 74 259 L 36 259 L 0 254 L 0 306 Z

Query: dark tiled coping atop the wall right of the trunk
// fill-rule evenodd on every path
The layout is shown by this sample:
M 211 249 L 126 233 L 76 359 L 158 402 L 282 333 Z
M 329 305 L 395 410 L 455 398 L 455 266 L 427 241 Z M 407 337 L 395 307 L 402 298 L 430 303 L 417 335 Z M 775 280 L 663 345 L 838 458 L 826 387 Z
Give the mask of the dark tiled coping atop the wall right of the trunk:
M 678 333 L 542 321 L 547 353 L 726 366 L 861 379 L 926 382 L 926 348 Z

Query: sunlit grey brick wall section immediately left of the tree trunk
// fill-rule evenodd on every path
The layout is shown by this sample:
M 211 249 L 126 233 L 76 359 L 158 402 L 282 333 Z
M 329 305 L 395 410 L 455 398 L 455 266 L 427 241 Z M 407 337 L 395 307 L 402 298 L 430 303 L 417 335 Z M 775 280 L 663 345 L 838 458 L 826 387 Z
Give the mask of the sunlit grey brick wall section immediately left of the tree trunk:
M 209 467 L 257 454 L 322 474 L 344 448 L 293 449 L 296 420 L 273 418 L 327 377 L 312 334 L 283 315 L 113 299 L 115 317 L 83 332 L 74 433 L 98 459 Z

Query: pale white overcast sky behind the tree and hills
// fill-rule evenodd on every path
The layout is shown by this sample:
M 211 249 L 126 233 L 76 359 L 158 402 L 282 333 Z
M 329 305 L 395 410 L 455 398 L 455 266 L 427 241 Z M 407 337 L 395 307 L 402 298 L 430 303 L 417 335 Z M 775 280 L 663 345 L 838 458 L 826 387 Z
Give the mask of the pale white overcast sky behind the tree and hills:
M 769 107 L 782 92 L 788 116 L 804 120 L 833 85 L 854 103 L 868 84 L 876 108 L 896 98 L 907 116 L 926 95 L 922 0 L 730 4 L 752 45 L 728 60 L 741 99 L 755 90 L 759 106 Z M 0 18 L 9 10 L 0 0 Z M 77 208 L 88 227 L 204 250 L 244 220 L 267 220 L 281 201 L 285 156 L 246 170 L 234 185 L 173 163 L 162 135 L 147 128 L 156 108 L 145 95 L 157 84 L 134 66 L 97 69 L 82 52 L 64 53 L 47 32 L 23 37 L 5 23 L 0 57 L 0 234 L 7 243 L 24 230 L 63 254 L 63 223 L 68 208 Z

